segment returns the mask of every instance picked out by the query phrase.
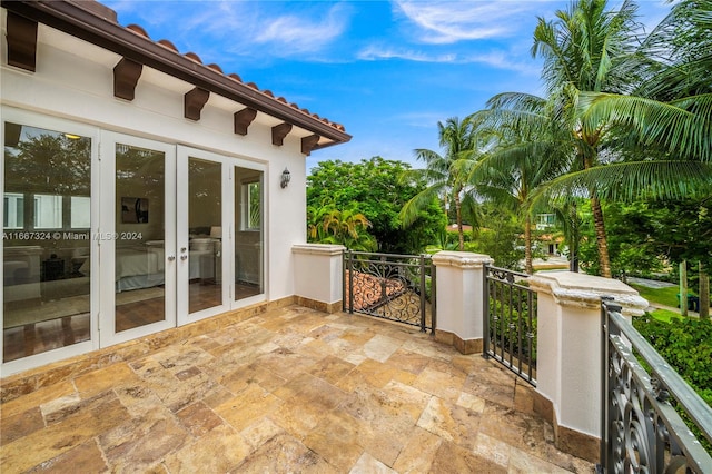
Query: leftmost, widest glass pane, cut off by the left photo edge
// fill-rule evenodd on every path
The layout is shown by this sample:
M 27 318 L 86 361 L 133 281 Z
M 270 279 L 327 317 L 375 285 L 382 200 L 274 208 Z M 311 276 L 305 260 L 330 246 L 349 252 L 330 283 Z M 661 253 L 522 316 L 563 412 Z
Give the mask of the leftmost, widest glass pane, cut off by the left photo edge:
M 91 138 L 4 122 L 3 362 L 90 340 Z

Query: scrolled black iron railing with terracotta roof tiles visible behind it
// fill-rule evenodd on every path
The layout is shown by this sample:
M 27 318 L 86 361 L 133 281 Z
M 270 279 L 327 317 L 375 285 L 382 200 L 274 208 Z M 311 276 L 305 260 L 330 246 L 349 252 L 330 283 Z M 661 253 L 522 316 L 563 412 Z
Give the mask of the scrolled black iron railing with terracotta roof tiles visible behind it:
M 435 271 L 428 255 L 344 253 L 343 309 L 435 327 Z

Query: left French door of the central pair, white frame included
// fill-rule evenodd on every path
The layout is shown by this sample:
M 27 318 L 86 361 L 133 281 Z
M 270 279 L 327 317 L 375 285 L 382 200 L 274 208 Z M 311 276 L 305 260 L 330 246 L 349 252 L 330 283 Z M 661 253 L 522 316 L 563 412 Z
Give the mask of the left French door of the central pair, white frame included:
M 102 347 L 176 326 L 175 150 L 101 134 Z

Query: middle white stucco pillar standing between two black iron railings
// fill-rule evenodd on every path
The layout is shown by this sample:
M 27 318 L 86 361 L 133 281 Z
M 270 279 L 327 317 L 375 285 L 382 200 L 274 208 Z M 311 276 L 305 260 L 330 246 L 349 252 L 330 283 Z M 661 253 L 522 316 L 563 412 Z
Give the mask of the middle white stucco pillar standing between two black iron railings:
M 469 251 L 433 256 L 437 279 L 435 339 L 462 354 L 482 352 L 484 266 L 494 260 Z

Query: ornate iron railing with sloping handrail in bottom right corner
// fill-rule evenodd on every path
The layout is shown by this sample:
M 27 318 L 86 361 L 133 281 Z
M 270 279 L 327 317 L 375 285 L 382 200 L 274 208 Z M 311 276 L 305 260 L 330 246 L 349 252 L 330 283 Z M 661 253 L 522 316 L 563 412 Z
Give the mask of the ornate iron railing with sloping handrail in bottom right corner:
M 601 464 L 605 473 L 712 473 L 712 409 L 621 316 L 602 305 Z

